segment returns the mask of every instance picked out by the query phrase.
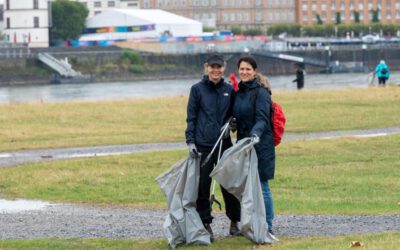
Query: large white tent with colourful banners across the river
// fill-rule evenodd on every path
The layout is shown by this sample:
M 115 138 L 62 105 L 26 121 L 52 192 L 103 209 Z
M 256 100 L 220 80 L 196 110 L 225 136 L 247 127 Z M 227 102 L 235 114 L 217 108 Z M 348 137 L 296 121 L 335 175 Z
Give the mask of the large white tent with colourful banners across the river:
M 157 38 L 162 34 L 174 37 L 200 36 L 201 22 L 159 9 L 110 9 L 86 20 L 89 33 L 80 41 L 127 40 Z

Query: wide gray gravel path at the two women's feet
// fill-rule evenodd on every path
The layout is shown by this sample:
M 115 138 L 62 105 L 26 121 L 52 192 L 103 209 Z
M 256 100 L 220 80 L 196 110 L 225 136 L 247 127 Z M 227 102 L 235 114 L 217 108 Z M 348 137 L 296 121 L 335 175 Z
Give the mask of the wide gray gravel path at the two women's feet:
M 163 238 L 166 211 L 51 204 L 43 210 L 0 213 L 0 239 Z M 214 213 L 217 238 L 228 236 L 229 221 Z M 277 215 L 277 236 L 336 236 L 400 232 L 397 215 Z

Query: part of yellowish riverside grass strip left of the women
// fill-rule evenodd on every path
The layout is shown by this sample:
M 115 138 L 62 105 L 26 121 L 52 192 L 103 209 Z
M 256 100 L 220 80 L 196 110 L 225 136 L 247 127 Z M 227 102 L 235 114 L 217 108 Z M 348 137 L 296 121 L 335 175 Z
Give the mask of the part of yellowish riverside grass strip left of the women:
M 187 97 L 0 105 L 0 151 L 182 141 Z

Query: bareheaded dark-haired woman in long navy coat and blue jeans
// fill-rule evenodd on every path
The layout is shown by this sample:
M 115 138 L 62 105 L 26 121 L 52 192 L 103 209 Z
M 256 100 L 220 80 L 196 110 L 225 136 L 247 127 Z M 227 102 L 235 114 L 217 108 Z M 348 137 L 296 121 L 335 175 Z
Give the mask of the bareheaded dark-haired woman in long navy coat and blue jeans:
M 258 172 L 264 196 L 268 231 L 272 234 L 274 205 L 268 181 L 275 174 L 275 147 L 272 135 L 270 107 L 271 95 L 265 86 L 265 78 L 257 77 L 257 63 L 252 57 L 242 57 L 238 61 L 239 91 L 233 106 L 233 116 L 237 121 L 238 140 L 252 137 L 258 143 L 255 149 L 258 157 Z

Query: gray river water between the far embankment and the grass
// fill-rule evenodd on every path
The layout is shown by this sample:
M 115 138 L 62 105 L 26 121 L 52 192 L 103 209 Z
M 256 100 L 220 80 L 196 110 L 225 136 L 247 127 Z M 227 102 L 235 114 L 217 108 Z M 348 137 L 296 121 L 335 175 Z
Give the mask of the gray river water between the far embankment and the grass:
M 269 77 L 273 90 L 288 91 L 296 90 L 296 83 L 292 82 L 294 78 L 294 75 Z M 0 103 L 95 101 L 188 95 L 191 85 L 199 79 L 4 86 L 0 87 Z M 306 74 L 305 89 L 366 88 L 370 82 L 371 76 L 367 73 Z M 377 84 L 376 78 L 374 83 Z M 400 72 L 391 73 L 390 83 L 400 83 Z

